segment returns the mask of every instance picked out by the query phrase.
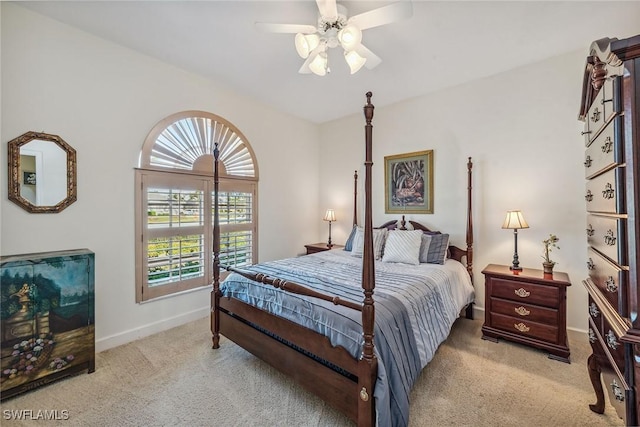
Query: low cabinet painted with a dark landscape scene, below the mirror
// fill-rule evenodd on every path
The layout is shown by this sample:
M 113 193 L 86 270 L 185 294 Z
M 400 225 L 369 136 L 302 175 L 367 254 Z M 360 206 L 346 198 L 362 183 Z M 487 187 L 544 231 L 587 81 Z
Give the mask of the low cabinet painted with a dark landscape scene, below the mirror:
M 94 253 L 0 257 L 1 398 L 95 370 Z

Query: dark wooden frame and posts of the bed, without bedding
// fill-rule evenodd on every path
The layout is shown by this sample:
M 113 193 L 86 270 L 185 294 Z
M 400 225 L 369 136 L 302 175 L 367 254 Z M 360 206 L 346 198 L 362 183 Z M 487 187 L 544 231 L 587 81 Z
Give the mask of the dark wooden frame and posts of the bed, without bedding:
M 279 371 L 289 375 L 298 384 L 318 395 L 362 427 L 375 425 L 376 413 L 373 392 L 378 373 L 378 361 L 373 351 L 375 270 L 371 206 L 371 167 L 373 165 L 371 120 L 374 106 L 371 104 L 371 96 L 371 92 L 367 92 L 367 103 L 364 106 L 366 158 L 364 251 L 362 256 L 362 289 L 364 298 L 362 304 L 354 304 L 332 295 L 321 294 L 298 283 L 268 277 L 260 273 L 242 271 L 220 264 L 219 152 L 217 145 L 214 150 L 214 282 L 213 291 L 211 292 L 213 348 L 219 348 L 220 335 L 224 335 Z M 450 246 L 451 258 L 462 262 L 462 258 L 466 257 L 467 271 L 470 275 L 472 275 L 473 267 L 471 167 L 471 158 L 469 158 L 467 163 L 467 249 L 462 250 L 455 246 Z M 357 189 L 357 184 L 355 187 Z M 356 222 L 355 218 L 356 209 L 354 207 L 354 223 Z M 390 221 L 383 224 L 382 227 L 395 228 L 396 223 L 397 221 Z M 416 229 L 426 230 L 424 226 L 416 222 L 409 221 L 409 223 Z M 401 227 L 404 227 L 404 217 Z M 361 311 L 364 338 L 361 357 L 359 359 L 353 358 L 344 348 L 333 347 L 327 337 L 289 320 L 267 313 L 234 298 L 222 298 L 220 268 L 239 273 L 251 280 L 272 285 L 284 291 L 320 298 L 331 301 L 336 305 Z M 470 304 L 466 309 L 466 316 L 472 318 L 472 313 L 472 304 Z

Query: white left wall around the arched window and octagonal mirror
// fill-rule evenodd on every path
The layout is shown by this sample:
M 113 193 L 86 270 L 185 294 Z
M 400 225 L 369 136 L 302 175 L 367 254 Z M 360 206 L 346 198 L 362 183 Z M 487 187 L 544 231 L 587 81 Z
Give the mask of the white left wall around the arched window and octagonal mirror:
M 24 132 L 60 135 L 77 151 L 78 201 L 59 214 L 29 214 L 8 201 L 0 174 L 0 253 L 93 250 L 98 350 L 209 312 L 208 290 L 135 303 L 133 170 L 164 117 L 205 110 L 247 137 L 260 168 L 262 261 L 316 241 L 308 218 L 318 211 L 317 125 L 15 4 L 2 4 L 1 18 L 0 163 L 7 164 L 6 142 Z

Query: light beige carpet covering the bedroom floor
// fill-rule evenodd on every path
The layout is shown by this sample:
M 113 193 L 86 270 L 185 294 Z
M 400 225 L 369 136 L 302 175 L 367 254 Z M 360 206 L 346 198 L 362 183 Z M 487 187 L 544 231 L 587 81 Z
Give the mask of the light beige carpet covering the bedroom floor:
M 569 331 L 571 364 L 543 351 L 482 340 L 459 319 L 411 393 L 410 426 L 621 426 L 595 394 L 586 336 Z M 223 338 L 204 318 L 98 353 L 96 371 L 2 403 L 3 426 L 349 426 L 286 376 Z M 68 419 L 7 419 L 7 411 L 67 411 Z

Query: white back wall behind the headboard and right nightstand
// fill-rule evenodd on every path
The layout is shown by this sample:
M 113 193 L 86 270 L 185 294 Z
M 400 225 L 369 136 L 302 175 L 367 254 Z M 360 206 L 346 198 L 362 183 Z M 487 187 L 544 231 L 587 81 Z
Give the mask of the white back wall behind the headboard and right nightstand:
M 471 156 L 477 305 L 484 307 L 482 269 L 489 263 L 511 264 L 513 231 L 501 225 L 507 210 L 521 209 L 530 228 L 518 235 L 520 264 L 541 269 L 542 240 L 549 233 L 558 235 L 561 249 L 552 259 L 572 281 L 568 326 L 583 331 L 586 214 L 584 144 L 577 114 L 587 49 L 588 43 L 584 52 L 376 108 L 372 182 L 374 224 L 398 218 L 384 213 L 384 156 L 434 150 L 434 214 L 408 219 L 451 233 L 453 242 L 464 247 L 466 162 Z M 375 105 L 375 87 L 371 90 Z M 355 169 L 364 171 L 363 129 L 362 114 L 321 129 L 325 149 L 320 179 L 326 185 L 320 206 L 331 205 L 344 218 L 333 228 L 336 243 L 344 242 L 351 227 L 350 176 Z

